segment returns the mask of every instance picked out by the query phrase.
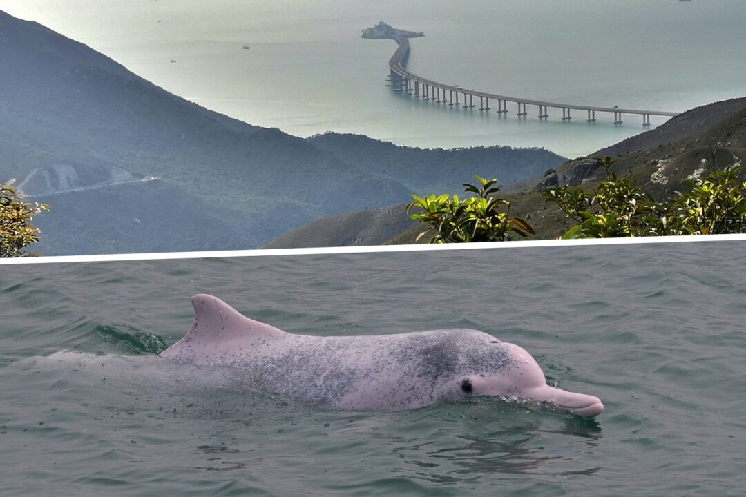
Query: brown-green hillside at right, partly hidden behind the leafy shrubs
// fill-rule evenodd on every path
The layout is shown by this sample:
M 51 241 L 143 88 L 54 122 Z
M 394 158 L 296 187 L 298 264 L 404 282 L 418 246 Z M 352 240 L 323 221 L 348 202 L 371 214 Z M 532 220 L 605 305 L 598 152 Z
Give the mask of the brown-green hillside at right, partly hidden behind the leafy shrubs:
M 511 212 L 525 218 L 536 230 L 536 237 L 531 238 L 556 238 L 571 226 L 564 214 L 556 206 L 546 203 L 540 191 L 537 191 L 539 180 L 545 182 L 554 179 L 554 184 L 569 181 L 573 185 L 590 182 L 589 186 L 592 186 L 594 181 L 603 177 L 603 172 L 597 162 L 588 158 L 606 155 L 614 156 L 615 172 L 632 176 L 653 197 L 666 197 L 681 190 L 682 181 L 687 177 L 706 174 L 713 156 L 719 169 L 743 163 L 746 159 L 746 98 L 734 98 L 689 110 L 653 130 L 589 154 L 587 158 L 567 161 L 543 179 L 523 180 L 521 191 L 515 191 L 515 184 L 513 188 L 505 189 L 505 192 L 510 191 L 504 197 L 511 202 Z M 588 167 L 589 162 L 594 167 Z M 742 171 L 742 175 L 746 178 L 746 171 Z M 460 189 L 449 191 L 457 192 Z M 368 220 L 369 224 L 363 220 Z M 404 204 L 374 212 L 356 212 L 333 220 L 315 221 L 273 241 L 270 246 L 307 247 L 309 245 L 304 245 L 304 239 L 312 236 L 312 232 L 314 241 L 327 246 L 354 244 L 348 241 L 357 240 L 363 233 L 389 234 L 402 226 L 405 228 L 380 243 L 415 243 L 424 225 L 406 227 L 407 220 Z M 340 232 L 334 228 L 336 226 L 348 227 L 348 231 Z M 424 237 L 420 243 L 426 240 L 427 237 Z

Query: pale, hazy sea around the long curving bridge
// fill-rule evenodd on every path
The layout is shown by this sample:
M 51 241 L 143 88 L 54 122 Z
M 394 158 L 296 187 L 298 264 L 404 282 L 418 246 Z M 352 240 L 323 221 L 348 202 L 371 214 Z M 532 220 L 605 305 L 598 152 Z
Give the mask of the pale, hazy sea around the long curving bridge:
M 568 157 L 644 130 L 598 114 L 539 121 L 431 104 L 386 86 L 383 20 L 423 31 L 409 69 L 523 98 L 682 112 L 744 96 L 742 0 L 3 0 L 219 113 L 295 136 L 360 133 L 421 148 L 510 145 Z M 248 46 L 248 49 L 243 48 Z M 665 118 L 652 118 L 653 126 Z

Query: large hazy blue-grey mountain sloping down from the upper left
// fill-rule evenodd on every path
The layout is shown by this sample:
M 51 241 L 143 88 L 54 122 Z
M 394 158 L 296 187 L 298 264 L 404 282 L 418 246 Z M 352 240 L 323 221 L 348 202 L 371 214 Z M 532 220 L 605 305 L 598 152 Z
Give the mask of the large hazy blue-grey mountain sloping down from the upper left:
M 1 11 L 0 67 L 0 181 L 51 206 L 37 218 L 46 255 L 162 250 L 157 232 L 124 229 L 132 219 L 160 227 L 168 250 L 259 247 L 323 216 L 406 202 L 433 184 L 433 167 L 444 186 L 459 177 L 458 186 L 474 161 L 483 175 L 507 176 L 512 165 L 530 177 L 565 160 L 533 149 L 301 139 L 207 110 Z M 231 235 L 186 235 L 210 223 Z

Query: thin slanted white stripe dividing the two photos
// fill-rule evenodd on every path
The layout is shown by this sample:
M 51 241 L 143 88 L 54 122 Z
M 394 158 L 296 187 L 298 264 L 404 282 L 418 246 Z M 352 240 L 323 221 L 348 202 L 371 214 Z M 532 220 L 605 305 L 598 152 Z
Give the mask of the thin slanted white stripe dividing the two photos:
M 367 245 L 295 249 L 214 250 L 210 252 L 123 253 L 98 256 L 42 256 L 0 259 L 0 265 L 60 262 L 154 261 L 160 259 L 213 259 L 218 257 L 303 256 L 335 253 L 427 252 L 431 250 L 505 249 L 521 247 L 582 247 L 589 245 L 666 244 L 695 241 L 739 241 L 746 235 L 687 235 L 640 238 L 591 238 L 583 240 L 489 241 L 470 244 Z

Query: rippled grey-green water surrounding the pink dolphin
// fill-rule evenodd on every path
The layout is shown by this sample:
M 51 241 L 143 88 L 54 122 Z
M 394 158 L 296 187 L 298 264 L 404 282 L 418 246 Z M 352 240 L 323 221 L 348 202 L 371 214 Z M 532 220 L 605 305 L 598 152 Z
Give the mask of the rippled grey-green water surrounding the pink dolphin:
M 151 352 L 207 292 L 288 332 L 468 327 L 601 397 L 320 411 Z M 739 496 L 743 242 L 3 266 L 1 495 Z

